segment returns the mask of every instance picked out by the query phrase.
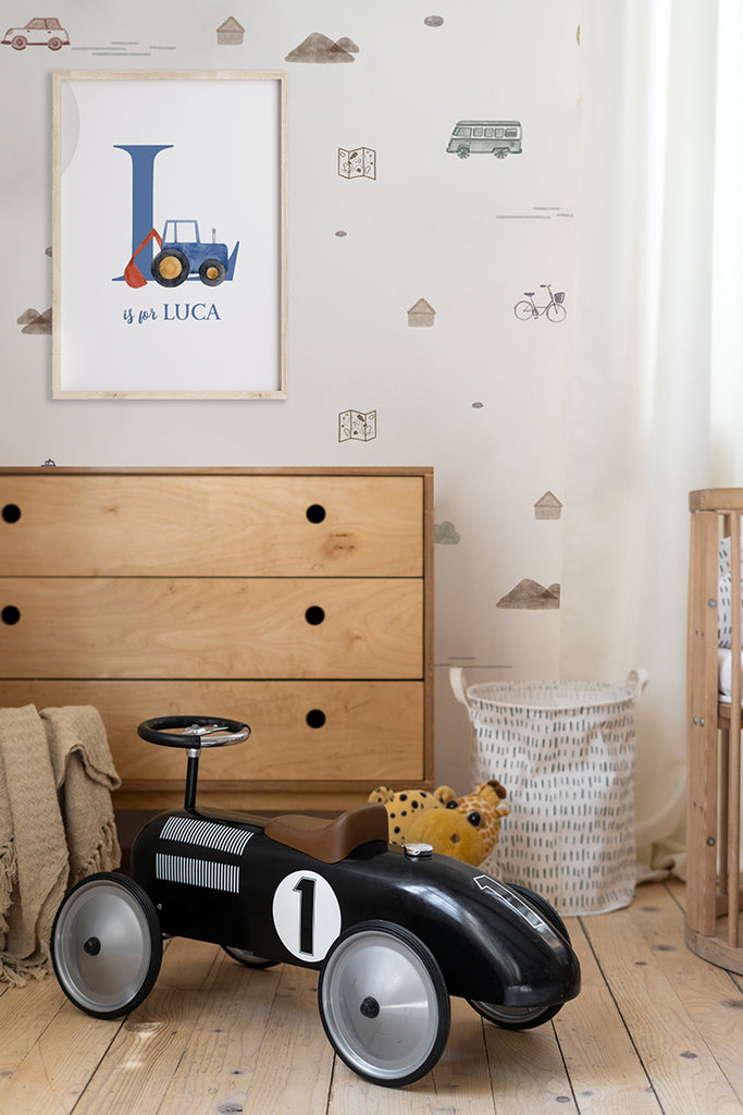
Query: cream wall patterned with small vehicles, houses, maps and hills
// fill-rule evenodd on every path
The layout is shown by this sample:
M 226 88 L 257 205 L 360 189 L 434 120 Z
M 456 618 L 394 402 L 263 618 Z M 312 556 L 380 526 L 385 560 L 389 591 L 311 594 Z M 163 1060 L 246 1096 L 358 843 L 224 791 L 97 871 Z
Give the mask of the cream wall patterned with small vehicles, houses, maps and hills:
M 35 13 L 0 11 L 2 30 Z M 560 581 L 561 520 L 534 504 L 563 496 L 579 3 L 56 0 L 43 14 L 69 47 L 0 46 L 0 462 L 432 465 L 450 540 L 436 546 L 436 777 L 466 788 L 448 665 L 471 680 L 557 676 L 559 609 L 497 604 L 525 579 Z M 229 16 L 241 45 L 217 42 Z M 350 38 L 354 60 L 286 61 L 312 32 Z M 51 399 L 51 338 L 18 319 L 51 304 L 55 69 L 287 72 L 287 399 Z M 463 118 L 520 120 L 522 154 L 448 154 Z M 340 177 L 338 148 L 362 145 L 377 180 Z M 540 283 L 565 291 L 565 321 L 516 319 Z M 408 324 L 421 298 L 431 328 Z M 339 442 L 350 408 L 377 410 L 374 439 Z

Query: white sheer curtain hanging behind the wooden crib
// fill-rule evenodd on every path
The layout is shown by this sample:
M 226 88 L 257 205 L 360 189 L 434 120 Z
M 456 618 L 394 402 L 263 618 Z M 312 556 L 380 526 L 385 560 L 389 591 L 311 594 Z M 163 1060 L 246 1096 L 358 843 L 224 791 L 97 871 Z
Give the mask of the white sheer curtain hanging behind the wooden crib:
M 741 7 L 586 0 L 581 22 L 560 669 L 649 671 L 647 846 L 683 832 L 687 493 L 743 485 Z

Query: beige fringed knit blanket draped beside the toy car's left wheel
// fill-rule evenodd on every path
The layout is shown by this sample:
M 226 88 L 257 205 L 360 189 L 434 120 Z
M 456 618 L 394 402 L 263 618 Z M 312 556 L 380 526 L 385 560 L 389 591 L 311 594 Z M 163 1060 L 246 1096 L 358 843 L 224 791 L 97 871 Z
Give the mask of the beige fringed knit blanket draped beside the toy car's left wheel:
M 68 886 L 119 865 L 119 785 L 97 709 L 0 709 L 0 980 L 49 971 Z

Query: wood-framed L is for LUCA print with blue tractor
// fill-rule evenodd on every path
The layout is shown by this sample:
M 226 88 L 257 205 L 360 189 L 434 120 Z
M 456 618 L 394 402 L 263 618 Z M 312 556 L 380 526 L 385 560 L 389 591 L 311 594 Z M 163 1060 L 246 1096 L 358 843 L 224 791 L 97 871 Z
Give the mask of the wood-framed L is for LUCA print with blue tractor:
M 286 397 L 286 75 L 53 75 L 55 398 Z

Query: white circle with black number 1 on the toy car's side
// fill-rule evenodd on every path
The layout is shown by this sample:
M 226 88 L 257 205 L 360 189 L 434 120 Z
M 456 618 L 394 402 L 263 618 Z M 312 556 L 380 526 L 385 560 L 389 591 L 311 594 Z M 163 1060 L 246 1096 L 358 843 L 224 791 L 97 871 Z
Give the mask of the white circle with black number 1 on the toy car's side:
M 323 960 L 341 932 L 333 888 L 314 871 L 282 879 L 273 898 L 273 920 L 282 943 L 300 960 Z

